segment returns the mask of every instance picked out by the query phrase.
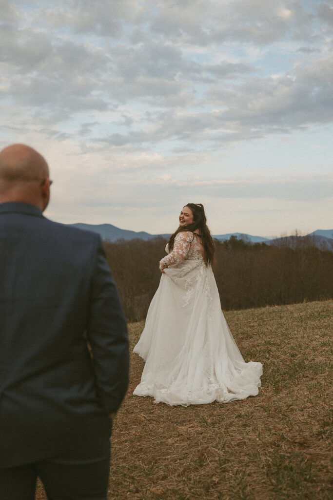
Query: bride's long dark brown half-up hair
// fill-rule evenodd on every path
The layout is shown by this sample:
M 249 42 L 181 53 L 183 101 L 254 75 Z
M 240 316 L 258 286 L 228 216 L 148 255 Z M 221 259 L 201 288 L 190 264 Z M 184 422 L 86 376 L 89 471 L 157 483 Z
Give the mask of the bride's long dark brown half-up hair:
M 196 229 L 199 230 L 199 236 L 201 238 L 202 246 L 205 250 L 205 262 L 206 265 L 213 264 L 214 262 L 214 252 L 215 252 L 215 244 L 213 238 L 211 236 L 210 230 L 207 227 L 207 218 L 205 215 L 204 205 L 202 203 L 186 203 L 186 205 L 191 208 L 193 213 L 193 222 L 192 224 L 188 224 L 186 226 L 179 226 L 176 231 L 171 234 L 168 245 L 169 251 L 173 249 L 175 237 L 181 231 L 192 231 L 194 232 Z

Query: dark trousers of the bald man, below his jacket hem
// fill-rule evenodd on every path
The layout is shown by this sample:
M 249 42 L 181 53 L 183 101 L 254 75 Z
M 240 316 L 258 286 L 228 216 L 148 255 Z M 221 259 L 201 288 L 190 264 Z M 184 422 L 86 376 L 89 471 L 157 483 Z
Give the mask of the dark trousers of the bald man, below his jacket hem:
M 49 500 L 107 500 L 110 457 L 56 459 L 0 469 L 1 500 L 34 500 L 37 476 Z

